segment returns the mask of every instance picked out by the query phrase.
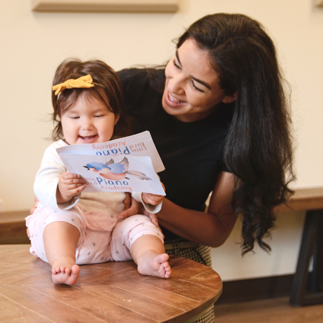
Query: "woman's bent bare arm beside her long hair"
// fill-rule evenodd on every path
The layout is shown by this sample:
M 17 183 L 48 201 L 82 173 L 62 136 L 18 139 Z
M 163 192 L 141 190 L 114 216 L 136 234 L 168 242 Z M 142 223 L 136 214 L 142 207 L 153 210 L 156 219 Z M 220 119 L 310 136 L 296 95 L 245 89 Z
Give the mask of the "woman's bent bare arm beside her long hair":
M 158 223 L 188 240 L 211 247 L 222 245 L 237 219 L 232 209 L 234 183 L 234 174 L 219 174 L 208 213 L 185 209 L 165 198 L 161 211 L 157 213 Z

